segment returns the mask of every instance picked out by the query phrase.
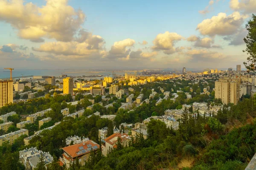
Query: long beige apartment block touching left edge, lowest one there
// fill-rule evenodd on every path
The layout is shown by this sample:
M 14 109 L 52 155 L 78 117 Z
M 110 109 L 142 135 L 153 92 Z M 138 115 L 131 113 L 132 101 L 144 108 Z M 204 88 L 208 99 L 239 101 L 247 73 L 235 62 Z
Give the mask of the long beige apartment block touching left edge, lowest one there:
M 26 129 L 20 129 L 12 133 L 5 134 L 3 136 L 0 136 L 0 146 L 3 145 L 3 142 L 9 142 L 10 145 L 13 144 L 13 142 L 18 139 L 21 135 L 29 135 L 29 130 Z

